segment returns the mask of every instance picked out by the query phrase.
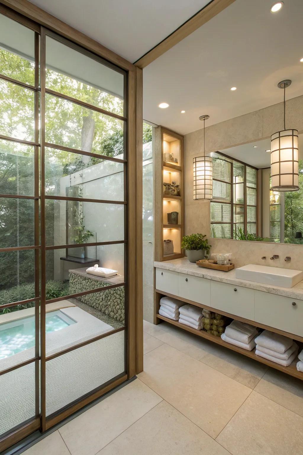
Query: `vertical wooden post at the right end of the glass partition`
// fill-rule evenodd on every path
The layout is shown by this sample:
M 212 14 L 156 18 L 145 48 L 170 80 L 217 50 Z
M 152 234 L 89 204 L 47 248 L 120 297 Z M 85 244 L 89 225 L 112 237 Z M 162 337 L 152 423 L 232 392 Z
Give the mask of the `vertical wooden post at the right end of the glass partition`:
M 136 81 L 136 374 L 143 371 L 143 71 L 137 68 Z

